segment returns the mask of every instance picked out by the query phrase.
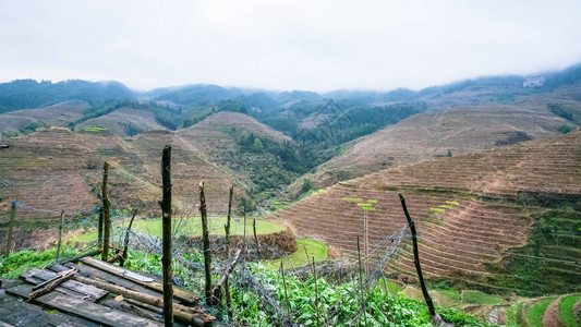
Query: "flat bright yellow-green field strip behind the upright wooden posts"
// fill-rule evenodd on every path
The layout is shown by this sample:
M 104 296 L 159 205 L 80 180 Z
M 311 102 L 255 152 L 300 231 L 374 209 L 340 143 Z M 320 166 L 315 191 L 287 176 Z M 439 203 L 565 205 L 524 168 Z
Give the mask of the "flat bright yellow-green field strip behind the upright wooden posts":
M 208 217 L 208 230 L 210 234 L 214 235 L 223 235 L 226 232 L 223 226 L 226 225 L 226 217 Z M 199 217 L 195 218 L 175 218 L 172 219 L 172 230 L 175 234 L 181 235 L 201 235 L 202 234 L 202 219 Z M 246 219 L 246 234 L 251 235 L 253 233 L 252 228 L 253 220 Z M 117 227 L 128 227 L 129 221 L 123 221 L 123 223 L 117 225 Z M 114 228 L 114 227 L 113 227 Z M 135 220 L 133 222 L 132 229 L 152 237 L 161 238 L 161 219 L 149 219 L 149 220 Z M 275 222 L 266 220 L 256 220 L 256 233 L 257 234 L 269 234 L 279 231 L 283 231 L 285 227 Z M 243 219 L 232 218 L 230 232 L 235 235 L 242 235 L 244 233 L 244 221 Z M 90 241 L 97 240 L 97 232 L 87 232 L 82 233 L 69 239 L 70 242 L 83 242 L 87 243 Z

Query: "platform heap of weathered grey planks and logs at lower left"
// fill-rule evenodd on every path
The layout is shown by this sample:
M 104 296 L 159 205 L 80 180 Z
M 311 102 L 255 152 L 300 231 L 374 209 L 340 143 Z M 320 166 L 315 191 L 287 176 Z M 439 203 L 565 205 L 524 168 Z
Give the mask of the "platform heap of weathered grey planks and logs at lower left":
M 55 308 L 104 326 L 161 326 L 162 284 L 119 266 L 85 257 L 81 263 L 31 269 L 20 278 L 27 283 L 7 289 L 7 294 L 32 304 Z M 63 271 L 74 271 L 75 274 Z M 62 275 L 62 276 L 61 276 Z M 65 275 L 65 276 L 64 276 Z M 35 294 L 35 289 L 43 292 Z M 215 317 L 195 302 L 199 295 L 174 288 L 173 319 L 191 326 L 211 326 Z

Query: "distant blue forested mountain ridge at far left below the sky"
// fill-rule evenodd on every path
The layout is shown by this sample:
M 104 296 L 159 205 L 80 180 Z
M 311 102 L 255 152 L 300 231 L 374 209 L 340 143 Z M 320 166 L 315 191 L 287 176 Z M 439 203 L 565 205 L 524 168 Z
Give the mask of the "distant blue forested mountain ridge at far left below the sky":
M 134 99 L 135 95 L 119 82 L 87 82 L 70 80 L 50 81 L 16 80 L 0 84 L 0 113 L 19 109 L 44 108 L 63 101 Z

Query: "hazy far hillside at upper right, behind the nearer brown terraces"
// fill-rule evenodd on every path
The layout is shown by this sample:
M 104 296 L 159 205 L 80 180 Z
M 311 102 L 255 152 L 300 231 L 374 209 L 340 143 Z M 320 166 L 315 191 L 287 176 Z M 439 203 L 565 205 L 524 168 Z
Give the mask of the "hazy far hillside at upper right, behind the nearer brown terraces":
M 509 105 L 449 109 L 455 107 L 450 105 L 448 110 L 415 114 L 352 142 L 343 154 L 304 178 L 329 186 L 389 167 L 445 157 L 448 150 L 456 156 L 558 135 L 581 125 L 580 95 L 581 85 L 576 84 L 519 96 Z

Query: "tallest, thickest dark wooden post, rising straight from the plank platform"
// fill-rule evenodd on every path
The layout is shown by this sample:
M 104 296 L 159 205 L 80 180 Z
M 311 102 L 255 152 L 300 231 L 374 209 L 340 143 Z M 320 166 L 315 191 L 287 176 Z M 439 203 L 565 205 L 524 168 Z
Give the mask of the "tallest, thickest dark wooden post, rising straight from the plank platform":
M 173 326 L 173 281 L 171 279 L 171 146 L 166 145 L 161 155 L 161 235 L 164 266 L 164 320 Z

